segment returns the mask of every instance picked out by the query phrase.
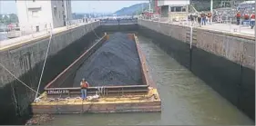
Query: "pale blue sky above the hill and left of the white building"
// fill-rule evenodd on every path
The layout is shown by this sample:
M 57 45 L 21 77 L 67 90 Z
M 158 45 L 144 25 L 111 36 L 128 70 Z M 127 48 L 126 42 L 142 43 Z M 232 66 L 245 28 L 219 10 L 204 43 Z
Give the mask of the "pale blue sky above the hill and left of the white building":
M 146 3 L 148 0 L 72 0 L 72 13 L 114 13 L 117 10 L 135 5 Z M 16 14 L 15 0 L 0 0 L 0 14 Z

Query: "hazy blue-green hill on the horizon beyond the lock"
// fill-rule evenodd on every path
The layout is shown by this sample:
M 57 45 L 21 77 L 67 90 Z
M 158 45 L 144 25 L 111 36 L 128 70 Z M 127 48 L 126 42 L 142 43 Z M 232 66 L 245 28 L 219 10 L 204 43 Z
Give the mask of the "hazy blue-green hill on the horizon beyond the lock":
M 143 10 L 148 9 L 148 3 L 141 3 L 141 4 L 136 4 L 136 5 L 131 5 L 129 7 L 124 7 L 114 14 L 116 15 L 138 15 L 140 12 L 142 12 L 142 7 Z

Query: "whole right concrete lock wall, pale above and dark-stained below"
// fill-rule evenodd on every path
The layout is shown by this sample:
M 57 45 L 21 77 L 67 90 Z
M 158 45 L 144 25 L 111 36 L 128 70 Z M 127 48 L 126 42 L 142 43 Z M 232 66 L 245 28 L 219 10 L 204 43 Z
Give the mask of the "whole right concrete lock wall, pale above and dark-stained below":
M 255 37 L 139 20 L 139 33 L 255 118 Z M 190 44 L 191 42 L 191 44 Z

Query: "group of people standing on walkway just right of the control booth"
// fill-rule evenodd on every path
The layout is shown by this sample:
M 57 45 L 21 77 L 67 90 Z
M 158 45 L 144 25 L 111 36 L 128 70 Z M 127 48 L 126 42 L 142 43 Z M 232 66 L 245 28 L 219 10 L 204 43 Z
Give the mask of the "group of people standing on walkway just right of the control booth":
M 190 14 L 188 16 L 189 22 L 194 25 L 196 24 L 200 24 L 200 25 L 206 25 L 206 24 L 211 24 L 211 18 L 212 15 L 211 13 L 199 13 L 199 14 Z

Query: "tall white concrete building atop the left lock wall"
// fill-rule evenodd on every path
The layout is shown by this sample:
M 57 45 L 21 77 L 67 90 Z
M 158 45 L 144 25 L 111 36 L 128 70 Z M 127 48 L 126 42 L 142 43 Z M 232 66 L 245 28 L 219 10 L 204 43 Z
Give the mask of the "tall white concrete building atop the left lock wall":
M 64 26 L 72 18 L 70 0 L 16 1 L 16 6 L 20 29 L 27 34 Z

